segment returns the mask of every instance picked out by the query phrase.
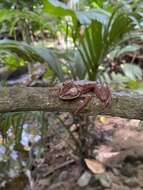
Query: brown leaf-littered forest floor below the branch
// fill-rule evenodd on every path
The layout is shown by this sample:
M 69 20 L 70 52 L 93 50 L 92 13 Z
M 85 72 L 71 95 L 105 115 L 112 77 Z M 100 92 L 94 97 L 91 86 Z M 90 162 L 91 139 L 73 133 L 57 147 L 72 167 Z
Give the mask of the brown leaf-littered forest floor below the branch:
M 99 161 L 100 165 L 91 163 L 91 169 L 85 169 L 73 156 L 72 142 L 67 134 L 57 125 L 55 134 L 49 133 L 46 138 L 44 158 L 33 170 L 32 190 L 143 189 L 143 129 L 140 121 L 97 116 L 96 120 L 92 118 L 92 124 L 89 126 L 89 138 L 93 142 L 91 156 L 92 161 Z

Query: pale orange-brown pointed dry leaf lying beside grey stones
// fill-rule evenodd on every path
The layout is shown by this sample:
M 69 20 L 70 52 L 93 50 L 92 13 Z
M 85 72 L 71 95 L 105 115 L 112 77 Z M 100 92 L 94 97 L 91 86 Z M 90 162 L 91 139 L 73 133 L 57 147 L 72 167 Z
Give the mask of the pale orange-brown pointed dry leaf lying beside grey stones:
M 93 159 L 84 159 L 84 161 L 90 171 L 92 171 L 94 174 L 102 174 L 105 172 L 105 167 L 101 162 Z

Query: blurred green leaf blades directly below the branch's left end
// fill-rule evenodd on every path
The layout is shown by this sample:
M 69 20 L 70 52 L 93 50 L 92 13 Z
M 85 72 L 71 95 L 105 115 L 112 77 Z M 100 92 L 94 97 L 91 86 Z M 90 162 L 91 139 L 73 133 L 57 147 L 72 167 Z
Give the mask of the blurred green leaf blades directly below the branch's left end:
M 14 138 L 13 140 L 15 142 L 15 145 L 18 148 L 18 146 L 20 146 L 21 144 L 24 124 L 29 122 L 36 122 L 39 125 L 39 127 L 42 127 L 42 114 L 42 112 L 1 113 L 0 135 L 3 140 L 3 143 L 9 143 L 11 142 L 11 138 Z

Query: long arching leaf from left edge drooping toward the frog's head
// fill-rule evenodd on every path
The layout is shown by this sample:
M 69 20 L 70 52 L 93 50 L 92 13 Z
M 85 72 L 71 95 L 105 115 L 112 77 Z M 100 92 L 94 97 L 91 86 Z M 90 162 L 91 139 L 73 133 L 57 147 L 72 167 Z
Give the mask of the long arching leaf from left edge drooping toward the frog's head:
M 11 54 L 16 54 L 17 57 L 31 63 L 33 61 L 47 62 L 55 75 L 63 81 L 60 62 L 50 49 L 32 47 L 26 43 L 20 43 L 14 40 L 0 40 L 0 51 L 4 50 Z

